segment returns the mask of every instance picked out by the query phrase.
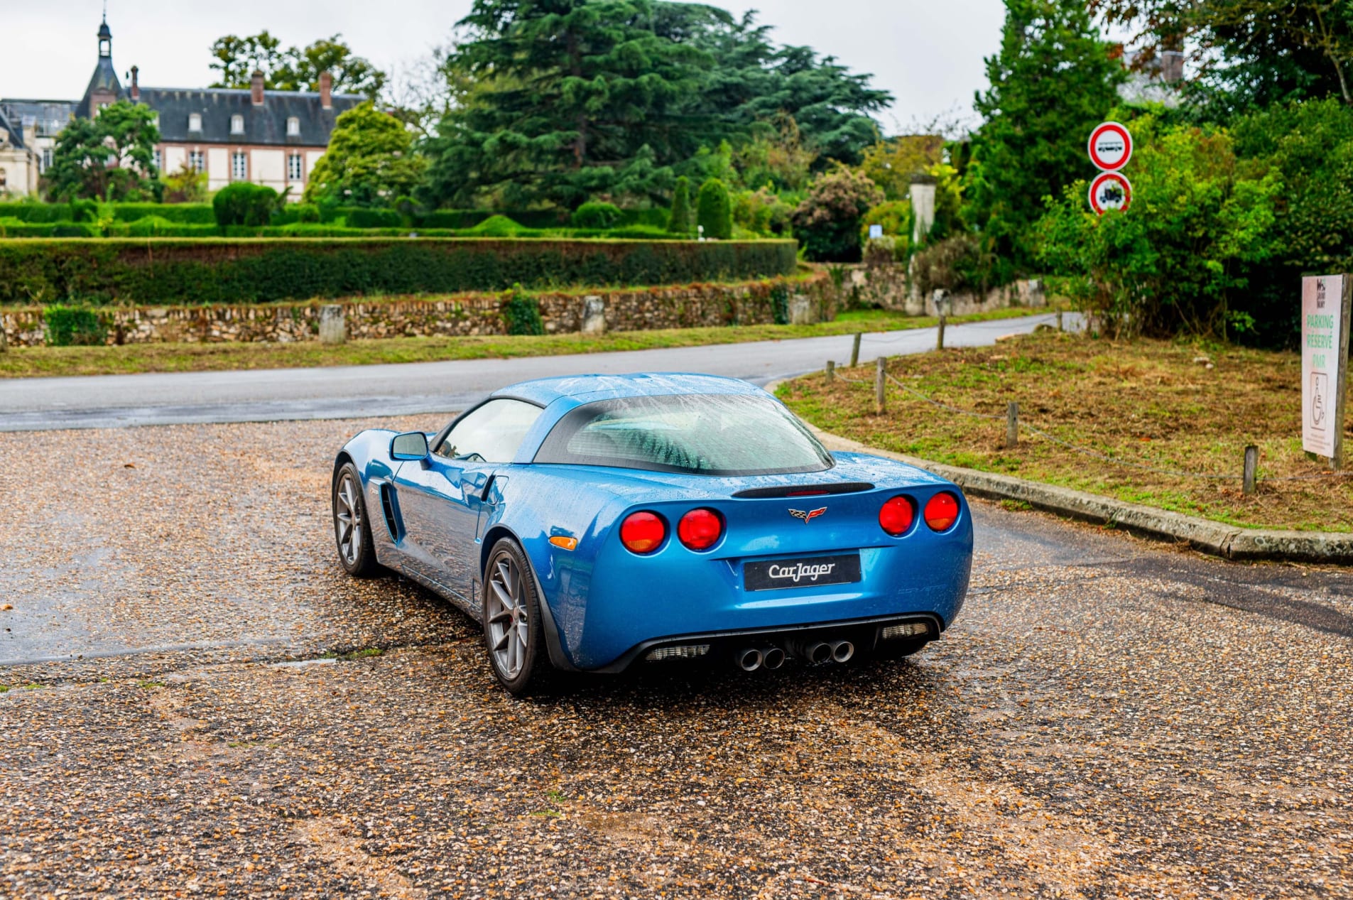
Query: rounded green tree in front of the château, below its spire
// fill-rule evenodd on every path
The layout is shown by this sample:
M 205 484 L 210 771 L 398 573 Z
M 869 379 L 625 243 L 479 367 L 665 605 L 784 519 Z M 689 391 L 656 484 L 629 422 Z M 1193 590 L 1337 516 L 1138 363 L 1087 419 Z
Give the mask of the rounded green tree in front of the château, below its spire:
M 157 192 L 156 114 L 119 100 L 93 119 L 74 119 L 57 138 L 47 169 L 55 200 L 150 200 Z

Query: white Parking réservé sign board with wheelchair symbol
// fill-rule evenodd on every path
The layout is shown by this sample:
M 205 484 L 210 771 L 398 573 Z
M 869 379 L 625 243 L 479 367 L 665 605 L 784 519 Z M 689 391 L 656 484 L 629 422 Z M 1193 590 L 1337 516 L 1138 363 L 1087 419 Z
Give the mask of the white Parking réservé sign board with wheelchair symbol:
M 1344 464 L 1353 277 L 1302 279 L 1302 447 Z

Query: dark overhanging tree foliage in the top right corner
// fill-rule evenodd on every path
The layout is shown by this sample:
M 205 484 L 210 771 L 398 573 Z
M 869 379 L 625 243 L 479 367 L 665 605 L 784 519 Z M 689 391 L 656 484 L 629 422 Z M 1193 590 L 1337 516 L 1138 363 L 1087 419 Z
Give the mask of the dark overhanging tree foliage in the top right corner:
M 1134 28 L 1139 60 L 1191 49 L 1201 97 L 1218 111 L 1337 95 L 1353 104 L 1349 0 L 1093 0 Z

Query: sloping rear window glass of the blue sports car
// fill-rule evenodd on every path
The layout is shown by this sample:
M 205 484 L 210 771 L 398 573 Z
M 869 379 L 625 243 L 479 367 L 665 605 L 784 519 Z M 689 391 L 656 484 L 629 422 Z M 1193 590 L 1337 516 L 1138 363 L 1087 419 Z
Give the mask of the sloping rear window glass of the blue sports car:
M 833 464 L 789 410 L 750 394 L 587 403 L 551 429 L 536 462 L 725 476 L 820 472 Z

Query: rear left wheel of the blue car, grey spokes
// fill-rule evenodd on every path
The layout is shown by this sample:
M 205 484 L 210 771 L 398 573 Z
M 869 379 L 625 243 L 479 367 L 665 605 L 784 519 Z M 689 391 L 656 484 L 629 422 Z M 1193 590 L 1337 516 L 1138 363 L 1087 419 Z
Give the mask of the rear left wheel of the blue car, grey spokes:
M 526 554 L 517 541 L 499 540 L 484 567 L 480 616 L 488 667 L 517 697 L 543 693 L 556 677 L 545 647 L 541 602 Z

